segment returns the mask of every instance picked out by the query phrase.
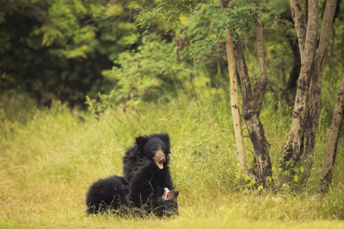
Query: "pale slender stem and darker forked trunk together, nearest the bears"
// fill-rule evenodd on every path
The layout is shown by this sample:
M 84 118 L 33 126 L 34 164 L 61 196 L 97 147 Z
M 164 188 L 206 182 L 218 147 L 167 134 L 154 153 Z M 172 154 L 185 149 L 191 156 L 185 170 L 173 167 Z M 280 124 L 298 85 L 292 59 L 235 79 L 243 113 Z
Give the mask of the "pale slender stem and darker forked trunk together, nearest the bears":
M 220 0 L 222 9 L 227 7 L 228 1 Z M 266 138 L 264 135 L 263 125 L 259 120 L 259 111 L 261 108 L 261 103 L 263 102 L 264 91 L 266 89 L 266 84 L 268 83 L 268 76 L 266 74 L 266 67 L 264 64 L 264 49 L 263 49 L 263 29 L 260 22 L 256 23 L 257 27 L 257 48 L 258 48 L 258 55 L 259 55 L 259 65 L 261 67 L 261 78 L 256 84 L 254 95 L 255 100 L 253 99 L 250 83 L 248 79 L 247 69 L 244 71 L 242 68 L 236 66 L 241 66 L 246 68 L 246 63 L 244 59 L 244 52 L 242 52 L 241 47 L 241 58 L 237 58 L 235 55 L 235 45 L 233 43 L 233 37 L 231 34 L 231 30 L 226 30 L 226 51 L 227 51 L 227 58 L 228 58 L 228 71 L 230 75 L 230 102 L 232 105 L 232 116 L 233 116 L 233 124 L 235 129 L 235 138 L 237 141 L 237 153 L 239 164 L 241 168 L 243 168 L 244 173 L 250 176 L 251 179 L 255 179 L 257 184 L 266 184 L 266 177 L 271 176 L 271 162 L 270 157 L 268 155 L 268 147 Z M 239 37 L 237 38 L 239 40 Z M 239 42 L 239 41 L 237 41 Z M 241 60 L 241 61 L 238 61 Z M 237 71 L 238 70 L 238 71 Z M 248 170 L 248 166 L 246 164 L 246 155 L 244 151 L 244 141 L 242 138 L 242 131 L 241 131 L 241 123 L 239 118 L 239 104 L 237 99 L 237 72 L 240 73 L 240 81 L 241 81 L 241 91 L 243 94 L 250 94 L 250 98 L 247 96 L 244 98 L 246 102 L 243 101 L 243 112 L 244 113 L 244 120 L 246 122 L 246 127 L 248 127 L 248 133 L 250 135 L 250 139 L 252 144 L 255 148 L 255 160 L 253 169 Z M 244 74 L 246 74 L 244 76 Z M 241 77 L 242 76 L 242 77 Z M 243 79 L 246 83 L 243 83 Z M 248 82 L 248 84 L 247 84 Z M 249 91 L 249 93 L 248 93 Z M 255 111 L 250 113 L 250 104 L 254 106 Z M 245 107 L 245 108 L 244 108 Z

